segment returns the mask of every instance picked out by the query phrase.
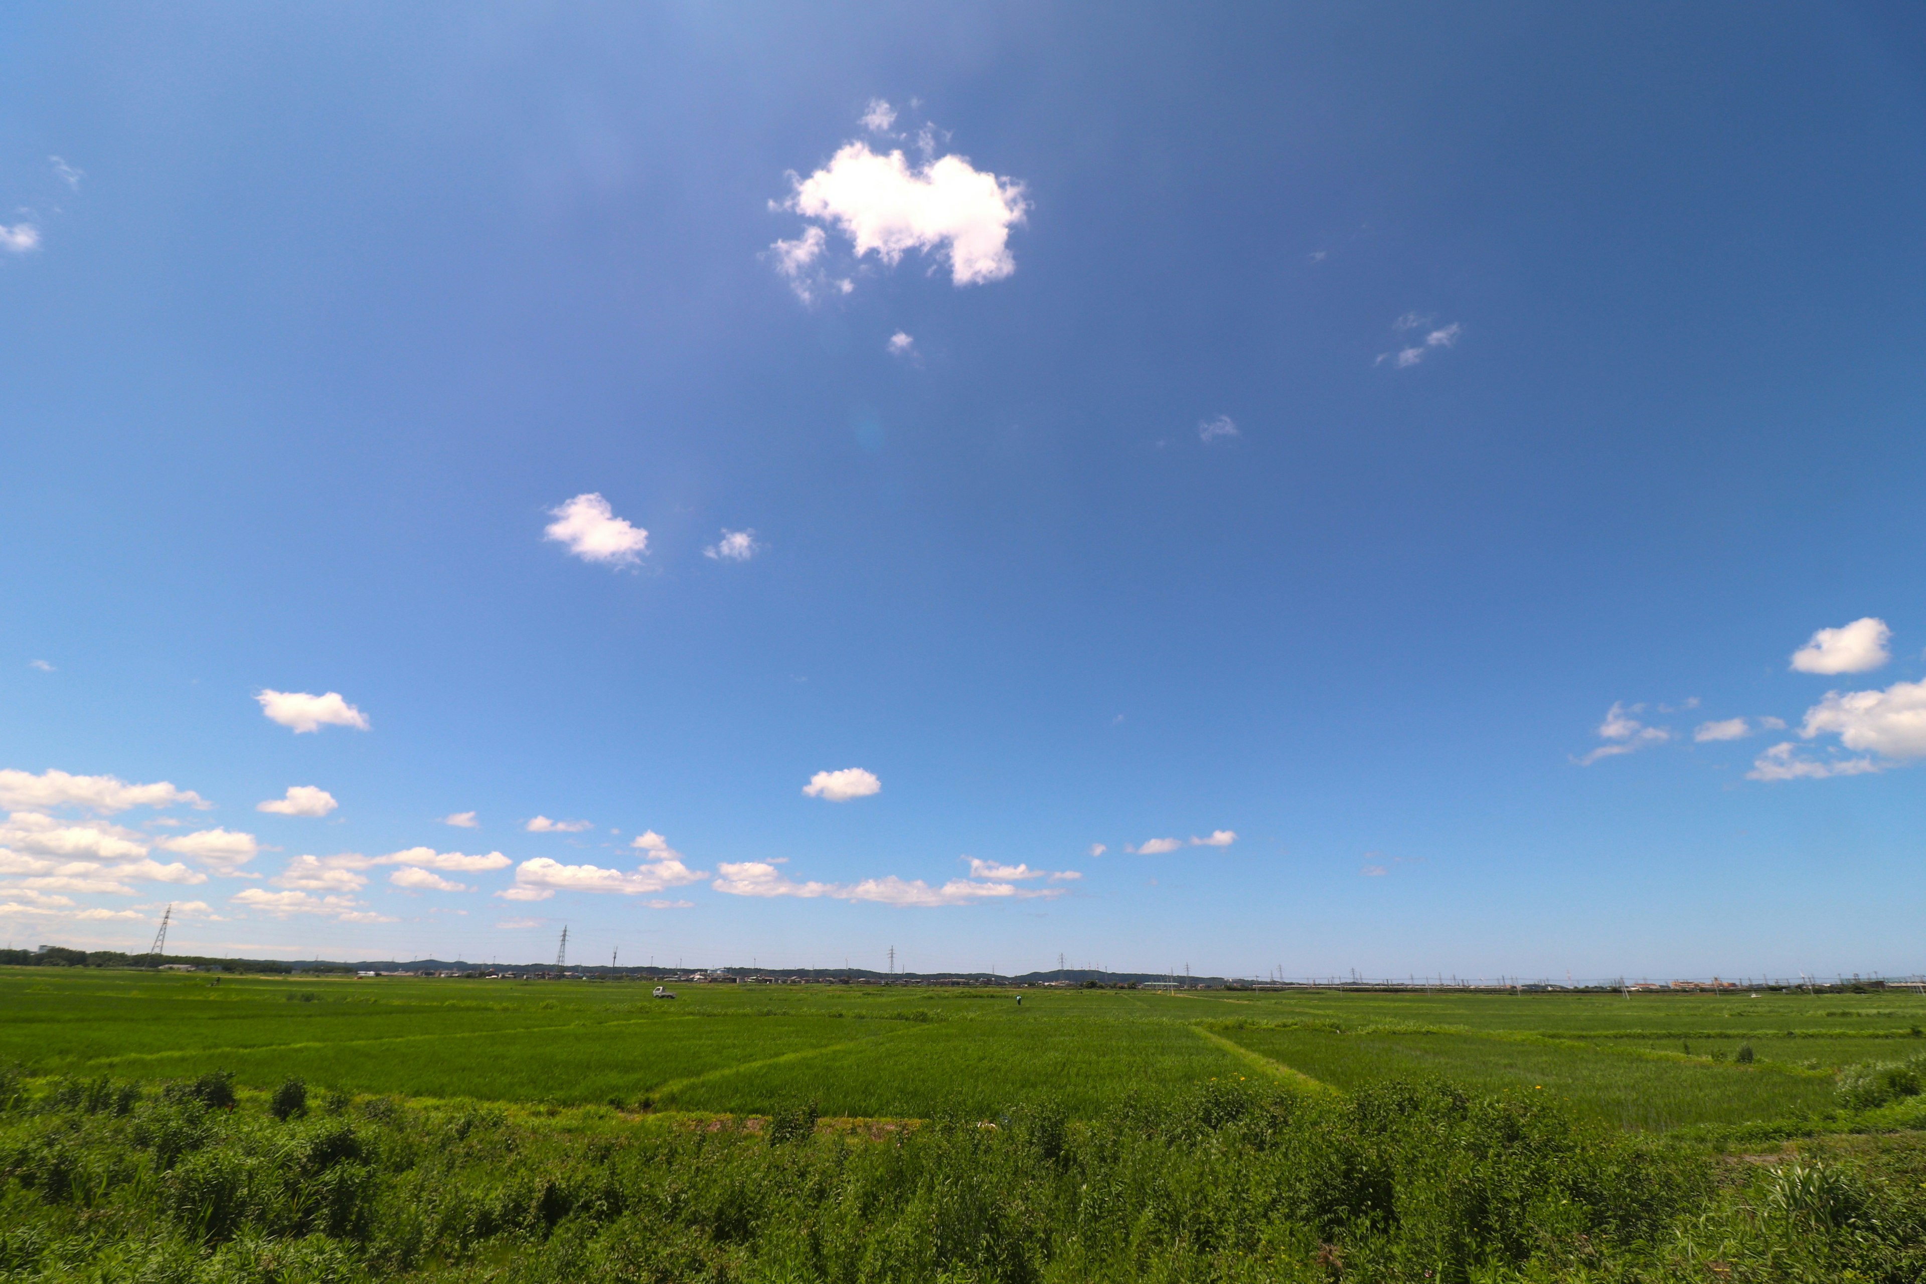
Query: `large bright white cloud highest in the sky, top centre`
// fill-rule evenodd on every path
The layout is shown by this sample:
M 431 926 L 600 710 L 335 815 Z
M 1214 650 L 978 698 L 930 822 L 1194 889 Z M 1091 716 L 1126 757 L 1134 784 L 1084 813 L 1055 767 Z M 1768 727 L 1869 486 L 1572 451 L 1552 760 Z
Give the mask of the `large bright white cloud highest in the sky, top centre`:
M 1017 270 L 1009 229 L 1028 208 L 1023 185 L 976 169 L 961 156 L 911 169 L 901 152 L 876 154 L 857 141 L 794 183 L 784 208 L 842 231 L 857 258 L 874 252 L 896 266 L 909 250 L 936 252 L 950 260 L 955 285 L 1000 281 Z M 795 281 L 822 252 L 820 229 L 811 227 L 801 243 L 778 241 L 772 250 L 778 268 Z

